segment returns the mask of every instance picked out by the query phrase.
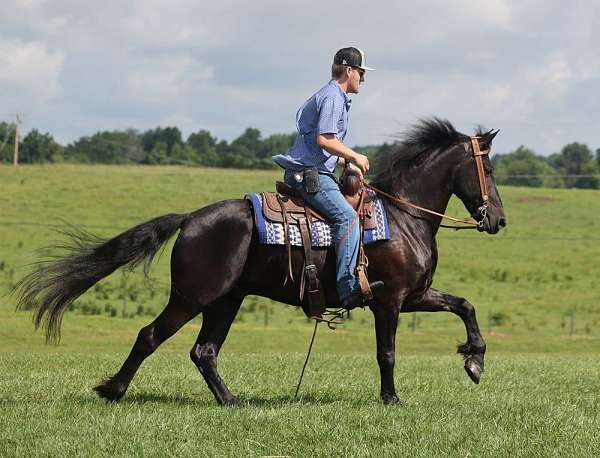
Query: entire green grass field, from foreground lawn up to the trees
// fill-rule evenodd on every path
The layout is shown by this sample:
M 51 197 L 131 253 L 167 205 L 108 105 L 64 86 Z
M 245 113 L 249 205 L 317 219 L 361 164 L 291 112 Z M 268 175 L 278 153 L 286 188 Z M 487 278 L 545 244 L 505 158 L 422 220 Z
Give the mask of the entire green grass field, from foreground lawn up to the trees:
M 177 167 L 0 167 L 0 455 L 596 456 L 600 449 L 600 258 L 594 191 L 500 189 L 509 227 L 439 236 L 435 286 L 468 297 L 488 343 L 473 385 L 454 355 L 449 314 L 403 317 L 396 383 L 405 407 L 378 401 L 372 319 L 357 311 L 317 336 L 290 307 L 249 298 L 219 360 L 244 403 L 218 408 L 187 354 L 188 324 L 140 369 L 119 405 L 91 387 L 114 372 L 167 294 L 170 245 L 151 279 L 117 273 L 84 295 L 45 346 L 6 295 L 56 240 L 52 226 L 111 236 L 186 212 L 278 174 Z M 451 214 L 465 211 L 453 202 Z M 113 316 L 113 318 L 110 318 Z M 265 318 L 267 322 L 265 323 Z M 266 326 L 265 326 L 266 324 Z M 488 326 L 492 325 L 491 333 Z M 572 328 L 571 328 L 572 326 Z

